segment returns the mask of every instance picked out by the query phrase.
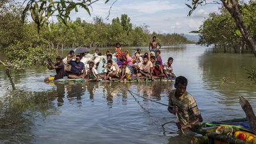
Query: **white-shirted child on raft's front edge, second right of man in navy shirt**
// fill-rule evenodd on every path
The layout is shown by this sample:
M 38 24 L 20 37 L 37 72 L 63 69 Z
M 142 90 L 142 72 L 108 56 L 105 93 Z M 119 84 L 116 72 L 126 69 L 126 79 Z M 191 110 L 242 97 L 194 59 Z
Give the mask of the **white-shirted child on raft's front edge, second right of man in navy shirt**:
M 116 68 L 115 66 L 113 66 L 113 61 L 108 60 L 107 66 L 105 67 L 105 71 L 104 71 L 104 80 L 109 79 L 111 81 L 112 78 L 116 78 L 116 77 L 119 77 L 119 76 L 117 76 Z

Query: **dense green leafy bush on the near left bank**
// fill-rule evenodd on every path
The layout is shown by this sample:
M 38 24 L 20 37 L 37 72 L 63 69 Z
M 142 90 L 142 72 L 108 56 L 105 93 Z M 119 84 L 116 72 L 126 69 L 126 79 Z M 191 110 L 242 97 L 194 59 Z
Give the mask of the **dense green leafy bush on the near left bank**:
M 23 23 L 21 4 L 6 1 L 0 11 L 0 49 L 4 49 L 1 64 L 11 69 L 44 65 L 56 56 L 56 49 L 37 33 L 35 24 Z

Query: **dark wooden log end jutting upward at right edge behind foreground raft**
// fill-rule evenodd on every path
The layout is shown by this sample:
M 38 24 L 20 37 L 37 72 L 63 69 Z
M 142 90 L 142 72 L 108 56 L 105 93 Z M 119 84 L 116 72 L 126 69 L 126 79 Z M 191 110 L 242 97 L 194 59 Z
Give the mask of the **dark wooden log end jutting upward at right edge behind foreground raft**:
M 251 104 L 242 96 L 240 97 L 239 103 L 247 116 L 252 132 L 256 135 L 256 116 L 252 110 Z

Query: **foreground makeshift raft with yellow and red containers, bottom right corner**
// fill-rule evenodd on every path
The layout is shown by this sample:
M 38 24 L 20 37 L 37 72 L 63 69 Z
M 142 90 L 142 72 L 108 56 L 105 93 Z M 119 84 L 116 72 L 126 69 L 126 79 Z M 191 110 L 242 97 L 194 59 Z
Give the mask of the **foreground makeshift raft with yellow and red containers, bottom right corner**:
M 256 144 L 247 119 L 196 124 L 193 131 L 203 136 L 194 137 L 191 143 Z

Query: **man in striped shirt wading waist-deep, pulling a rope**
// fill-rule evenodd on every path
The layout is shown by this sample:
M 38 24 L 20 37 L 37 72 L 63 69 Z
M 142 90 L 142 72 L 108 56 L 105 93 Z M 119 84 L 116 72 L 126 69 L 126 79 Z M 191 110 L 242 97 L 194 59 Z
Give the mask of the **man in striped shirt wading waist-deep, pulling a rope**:
M 187 79 L 184 76 L 178 76 L 175 80 L 174 87 L 169 94 L 169 105 L 168 111 L 172 114 L 177 114 L 179 123 L 177 126 L 179 129 L 184 129 L 187 132 L 191 132 L 190 129 L 193 124 L 203 121 L 199 108 L 194 98 L 188 94 Z

